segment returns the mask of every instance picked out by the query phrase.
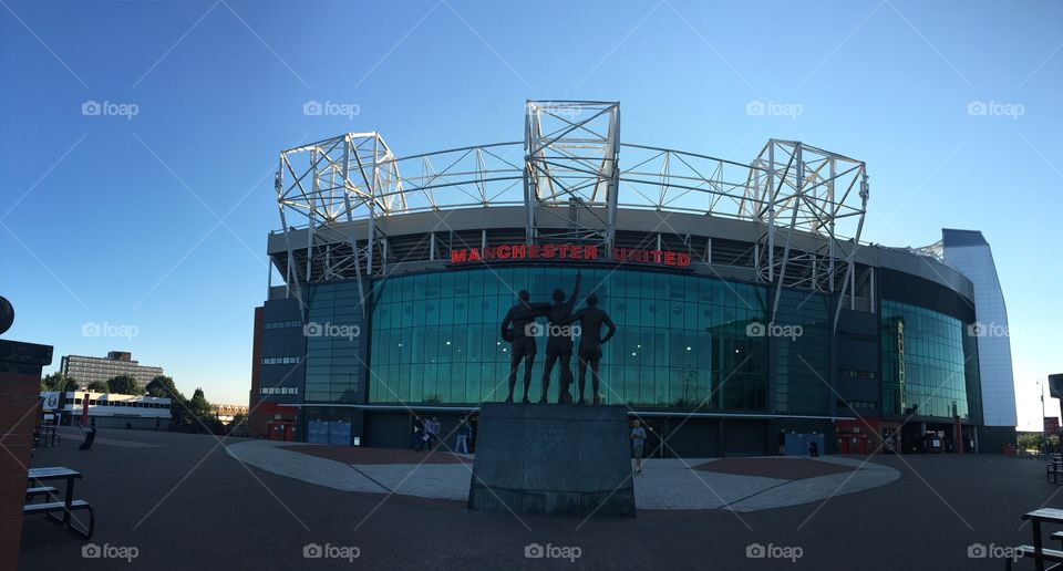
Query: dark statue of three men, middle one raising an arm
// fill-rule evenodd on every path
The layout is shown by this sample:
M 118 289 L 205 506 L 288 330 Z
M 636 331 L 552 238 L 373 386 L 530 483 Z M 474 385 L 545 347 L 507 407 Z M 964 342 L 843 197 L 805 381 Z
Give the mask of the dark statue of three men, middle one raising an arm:
M 502 338 L 513 344 L 509 355 L 509 396 L 507 403 L 513 402 L 513 391 L 517 382 L 517 370 L 520 362 L 524 362 L 524 398 L 522 402 L 530 403 L 528 399 L 528 390 L 532 387 L 532 365 L 535 362 L 536 342 L 535 338 L 546 333 L 546 366 L 543 370 L 543 396 L 539 403 L 547 402 L 547 392 L 550 387 L 550 373 L 554 365 L 560 361 L 560 378 L 558 382 L 558 403 L 571 403 L 572 384 L 572 334 L 574 323 L 579 323 L 579 349 L 577 359 L 579 361 L 579 401 L 577 404 L 586 404 L 585 387 L 587 365 L 591 370 L 591 391 L 592 403 L 600 403 L 599 393 L 599 364 L 601 362 L 601 344 L 609 341 L 617 332 L 609 315 L 597 307 L 598 297 L 591 293 L 587 297 L 587 307 L 572 313 L 576 305 L 576 299 L 579 295 L 579 282 L 581 276 L 576 272 L 576 284 L 572 287 L 572 293 L 568 300 L 565 299 L 565 292 L 556 289 L 553 292 L 554 303 L 532 303 L 530 294 L 527 290 L 520 290 L 517 293 L 517 303 L 509 308 L 505 319 L 502 320 Z M 547 319 L 546 329 L 541 329 L 535 320 L 545 316 Z M 602 325 L 608 328 L 608 333 L 601 335 Z

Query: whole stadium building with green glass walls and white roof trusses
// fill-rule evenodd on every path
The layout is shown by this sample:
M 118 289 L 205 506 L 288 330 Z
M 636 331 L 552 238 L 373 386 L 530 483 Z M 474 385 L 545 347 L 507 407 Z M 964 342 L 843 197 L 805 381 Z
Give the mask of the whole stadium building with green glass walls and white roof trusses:
M 618 103 L 529 101 L 522 142 L 396 157 L 351 133 L 282 152 L 276 189 L 252 435 L 407 446 L 415 415 L 448 433 L 506 397 L 516 292 L 548 301 L 579 270 L 577 309 L 594 292 L 618 328 L 601 398 L 657 454 L 765 454 L 780 430 L 843 453 L 1014 442 L 984 422 L 1003 393 L 982 384 L 974 283 L 941 248 L 860 242 L 860 160 L 621 144 Z

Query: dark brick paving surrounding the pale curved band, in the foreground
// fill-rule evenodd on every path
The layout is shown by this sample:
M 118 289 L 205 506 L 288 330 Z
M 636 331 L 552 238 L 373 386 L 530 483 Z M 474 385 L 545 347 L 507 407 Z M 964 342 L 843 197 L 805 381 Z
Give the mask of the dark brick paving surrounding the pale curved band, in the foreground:
M 826 502 L 750 512 L 643 510 L 625 520 L 518 519 L 471 513 L 460 501 L 311 485 L 245 466 L 210 436 L 101 429 L 103 438 L 155 446 L 97 439 L 89 451 L 75 449 L 76 435 L 64 436 L 60 446 L 38 450 L 32 465 L 83 471 L 76 495 L 96 506 L 93 542 L 138 553 L 132 562 L 83 559 L 83 541 L 33 517 L 23 530 L 23 570 L 1000 570 L 1001 560 L 969 559 L 969 546 L 1030 542 L 1022 513 L 1042 505 L 1063 508 L 1063 494 L 1056 494 L 1063 488 L 1044 481 L 1043 463 L 933 455 L 876 457 L 865 469 L 895 469 L 896 481 Z M 310 543 L 329 546 L 333 554 L 343 553 L 338 547 L 358 547 L 359 557 L 353 563 L 307 559 Z M 577 547 L 579 558 L 526 558 L 535 544 L 549 544 L 553 554 Z M 756 544 L 773 553 L 798 547 L 801 557 L 793 563 L 747 558 Z

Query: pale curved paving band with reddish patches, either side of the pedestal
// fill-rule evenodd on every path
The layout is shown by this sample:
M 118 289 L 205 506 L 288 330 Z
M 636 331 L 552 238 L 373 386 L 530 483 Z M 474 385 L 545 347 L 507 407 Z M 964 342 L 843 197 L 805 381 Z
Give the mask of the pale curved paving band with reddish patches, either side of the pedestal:
M 472 466 L 446 451 L 435 451 L 431 456 L 389 451 L 393 461 L 382 463 L 375 450 L 354 449 L 355 454 L 338 460 L 322 457 L 336 455 L 318 451 L 321 448 L 334 447 L 249 440 L 229 445 L 226 451 L 257 468 L 338 490 L 456 501 L 465 501 L 468 496 Z M 713 464 L 718 463 L 714 458 L 653 458 L 646 460 L 643 473 L 634 477 L 636 505 L 639 509 L 650 510 L 726 508 L 755 511 L 852 494 L 884 486 L 900 477 L 894 468 L 854 458 L 778 458 L 776 461 L 783 465 L 825 464 L 842 469 L 824 470 L 833 474 L 808 478 L 786 478 L 773 477 L 773 471 L 787 471 L 786 466 L 777 470 L 768 467 L 758 475 L 727 474 L 712 470 Z M 742 460 L 737 463 L 742 464 Z

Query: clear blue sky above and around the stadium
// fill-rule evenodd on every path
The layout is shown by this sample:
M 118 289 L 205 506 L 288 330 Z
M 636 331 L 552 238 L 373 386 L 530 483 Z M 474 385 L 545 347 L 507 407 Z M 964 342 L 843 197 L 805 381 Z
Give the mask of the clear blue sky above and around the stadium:
M 127 350 L 246 403 L 280 149 L 519 141 L 525 100 L 584 98 L 620 101 L 629 143 L 866 160 L 866 240 L 992 245 L 1020 428 L 1063 372 L 1060 2 L 0 0 L 0 76 L 4 336 L 54 345 L 51 370 Z

